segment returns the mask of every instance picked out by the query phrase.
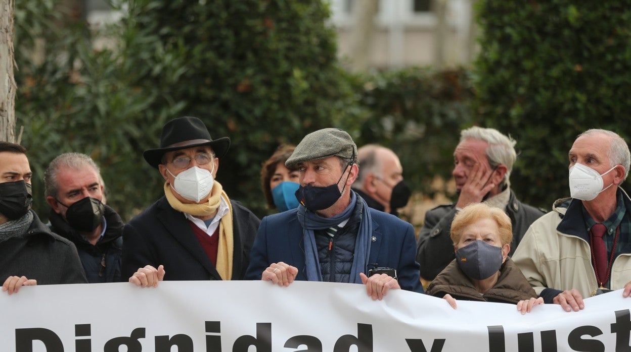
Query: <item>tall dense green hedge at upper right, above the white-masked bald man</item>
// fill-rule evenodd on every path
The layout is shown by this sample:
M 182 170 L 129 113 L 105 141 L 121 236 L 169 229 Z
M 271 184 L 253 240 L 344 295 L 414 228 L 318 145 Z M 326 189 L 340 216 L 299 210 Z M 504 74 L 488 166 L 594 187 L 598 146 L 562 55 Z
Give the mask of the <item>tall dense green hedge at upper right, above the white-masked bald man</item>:
M 483 0 L 476 115 L 517 139 L 511 176 L 526 202 L 569 196 L 567 152 L 605 128 L 631 140 L 631 1 Z

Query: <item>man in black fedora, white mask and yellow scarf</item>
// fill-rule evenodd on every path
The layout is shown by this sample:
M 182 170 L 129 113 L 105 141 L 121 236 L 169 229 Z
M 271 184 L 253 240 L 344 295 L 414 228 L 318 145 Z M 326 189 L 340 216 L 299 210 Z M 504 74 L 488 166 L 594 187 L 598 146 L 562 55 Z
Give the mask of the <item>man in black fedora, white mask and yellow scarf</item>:
M 196 117 L 163 127 L 160 148 L 143 157 L 165 179 L 164 196 L 125 226 L 122 277 L 142 287 L 244 277 L 260 220 L 215 180 L 228 147 Z

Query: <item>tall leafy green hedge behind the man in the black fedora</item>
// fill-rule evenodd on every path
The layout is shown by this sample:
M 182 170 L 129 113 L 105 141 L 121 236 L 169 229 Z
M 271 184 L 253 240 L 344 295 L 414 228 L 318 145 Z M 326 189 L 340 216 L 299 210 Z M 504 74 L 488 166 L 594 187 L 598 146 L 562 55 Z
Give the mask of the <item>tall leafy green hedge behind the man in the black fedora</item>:
M 52 0 L 16 3 L 18 125 L 35 171 L 35 208 L 46 217 L 42 175 L 61 152 L 102 167 L 109 203 L 124 219 L 162 193 L 144 162 L 171 118 L 198 116 L 213 137 L 229 136 L 218 180 L 263 213 L 259 171 L 281 143 L 338 125 L 352 101 L 336 60 L 329 8 L 319 1 L 126 1 L 111 28 L 61 26 Z M 93 50 L 105 35 L 113 48 Z M 33 60 L 44 38 L 42 61 Z

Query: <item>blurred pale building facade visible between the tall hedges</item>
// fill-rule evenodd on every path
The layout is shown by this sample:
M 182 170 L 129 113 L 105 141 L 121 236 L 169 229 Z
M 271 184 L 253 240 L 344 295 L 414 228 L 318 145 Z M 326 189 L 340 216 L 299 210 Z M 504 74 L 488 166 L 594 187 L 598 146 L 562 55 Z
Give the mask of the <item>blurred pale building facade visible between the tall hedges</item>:
M 339 57 L 351 69 L 467 65 L 475 0 L 330 0 Z

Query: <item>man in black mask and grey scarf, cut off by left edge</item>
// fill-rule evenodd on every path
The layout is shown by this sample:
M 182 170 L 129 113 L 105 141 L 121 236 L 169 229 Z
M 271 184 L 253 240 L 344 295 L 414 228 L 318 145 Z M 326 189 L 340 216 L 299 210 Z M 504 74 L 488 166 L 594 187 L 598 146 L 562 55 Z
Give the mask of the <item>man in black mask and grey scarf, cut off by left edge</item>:
M 26 152 L 0 142 L 0 278 L 9 295 L 22 286 L 86 282 L 74 244 L 30 210 L 33 173 Z

